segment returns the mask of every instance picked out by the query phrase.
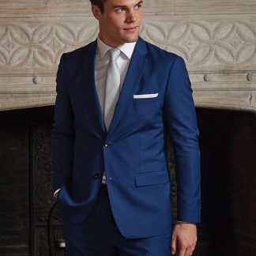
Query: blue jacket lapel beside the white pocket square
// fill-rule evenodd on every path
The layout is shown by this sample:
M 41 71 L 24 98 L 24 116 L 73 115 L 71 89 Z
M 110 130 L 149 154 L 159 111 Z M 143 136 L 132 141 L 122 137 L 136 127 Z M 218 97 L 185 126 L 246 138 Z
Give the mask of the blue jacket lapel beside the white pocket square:
M 122 91 L 119 96 L 119 101 L 115 107 L 115 114 L 113 116 L 111 126 L 109 127 L 108 133 L 111 134 L 115 131 L 126 107 L 133 99 L 134 87 L 141 79 L 145 64 L 148 62 L 146 58 L 146 45 L 145 41 L 139 38 L 134 48 L 134 53 L 130 59 L 130 66 L 126 73 L 126 79 L 122 85 Z

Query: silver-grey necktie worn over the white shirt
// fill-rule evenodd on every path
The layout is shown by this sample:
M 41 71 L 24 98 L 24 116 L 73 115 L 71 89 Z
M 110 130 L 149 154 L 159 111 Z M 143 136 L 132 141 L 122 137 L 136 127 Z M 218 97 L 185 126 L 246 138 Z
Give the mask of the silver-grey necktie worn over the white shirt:
M 107 68 L 107 80 L 105 91 L 105 106 L 104 106 L 104 119 L 105 125 L 108 130 L 111 120 L 115 112 L 115 106 L 119 100 L 120 89 L 120 72 L 117 66 L 116 59 L 120 55 L 120 50 L 113 48 L 109 50 L 110 63 Z

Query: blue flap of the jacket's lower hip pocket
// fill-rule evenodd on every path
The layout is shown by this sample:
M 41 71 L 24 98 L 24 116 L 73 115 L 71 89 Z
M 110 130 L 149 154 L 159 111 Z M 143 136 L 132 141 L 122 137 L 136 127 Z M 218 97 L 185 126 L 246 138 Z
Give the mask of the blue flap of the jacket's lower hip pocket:
M 168 183 L 168 171 L 155 171 L 135 175 L 135 186 L 150 186 Z

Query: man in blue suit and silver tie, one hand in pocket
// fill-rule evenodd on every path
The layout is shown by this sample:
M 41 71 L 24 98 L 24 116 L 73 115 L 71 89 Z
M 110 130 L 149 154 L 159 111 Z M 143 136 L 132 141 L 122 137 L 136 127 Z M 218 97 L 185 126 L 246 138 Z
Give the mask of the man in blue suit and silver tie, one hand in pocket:
M 192 255 L 198 127 L 183 59 L 139 35 L 140 0 L 91 0 L 95 42 L 62 55 L 51 159 L 67 255 Z M 164 130 L 175 150 L 172 229 Z

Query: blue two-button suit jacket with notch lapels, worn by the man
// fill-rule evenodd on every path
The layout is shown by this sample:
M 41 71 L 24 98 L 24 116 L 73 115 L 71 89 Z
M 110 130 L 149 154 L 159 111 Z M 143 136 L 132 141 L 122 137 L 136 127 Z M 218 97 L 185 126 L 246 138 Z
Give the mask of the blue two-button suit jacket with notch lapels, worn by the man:
M 175 150 L 178 220 L 199 222 L 198 127 L 183 58 L 140 38 L 107 132 L 94 80 L 95 55 L 92 42 L 62 55 L 58 66 L 51 160 L 53 190 L 62 188 L 62 216 L 73 224 L 85 220 L 105 171 L 122 235 L 140 238 L 170 232 L 167 129 Z M 155 93 L 155 98 L 134 99 Z

